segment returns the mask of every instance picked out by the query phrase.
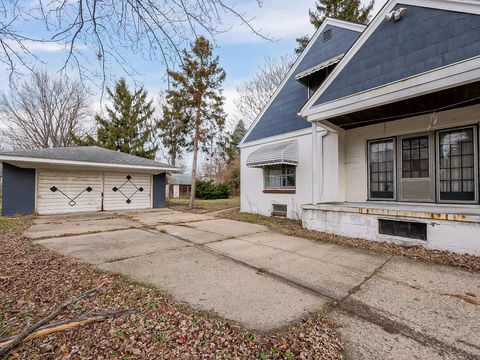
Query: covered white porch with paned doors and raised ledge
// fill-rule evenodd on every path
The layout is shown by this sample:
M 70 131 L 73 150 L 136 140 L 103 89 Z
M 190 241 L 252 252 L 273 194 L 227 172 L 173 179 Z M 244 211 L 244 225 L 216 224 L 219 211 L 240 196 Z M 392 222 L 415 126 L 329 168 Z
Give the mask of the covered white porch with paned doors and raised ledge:
M 480 255 L 479 84 L 473 89 L 450 93 L 465 91 L 464 106 L 460 95 L 447 105 L 435 93 L 319 122 L 328 133 L 313 146 L 317 182 L 304 227 Z

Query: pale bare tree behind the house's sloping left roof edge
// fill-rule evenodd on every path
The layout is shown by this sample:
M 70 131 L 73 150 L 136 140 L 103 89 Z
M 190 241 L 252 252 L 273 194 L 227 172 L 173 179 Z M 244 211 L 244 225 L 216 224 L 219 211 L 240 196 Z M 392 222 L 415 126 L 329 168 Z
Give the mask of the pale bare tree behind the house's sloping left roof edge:
M 255 121 L 268 100 L 290 70 L 295 56 L 287 54 L 279 58 L 266 57 L 265 64 L 253 77 L 237 87 L 235 107 L 248 127 Z

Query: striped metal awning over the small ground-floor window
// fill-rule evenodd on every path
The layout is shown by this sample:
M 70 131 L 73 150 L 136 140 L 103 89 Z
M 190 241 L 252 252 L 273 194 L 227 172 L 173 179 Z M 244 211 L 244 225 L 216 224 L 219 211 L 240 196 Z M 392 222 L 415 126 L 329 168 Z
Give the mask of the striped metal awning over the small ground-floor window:
M 278 164 L 298 165 L 297 140 L 262 146 L 247 158 L 247 166 L 253 168 Z

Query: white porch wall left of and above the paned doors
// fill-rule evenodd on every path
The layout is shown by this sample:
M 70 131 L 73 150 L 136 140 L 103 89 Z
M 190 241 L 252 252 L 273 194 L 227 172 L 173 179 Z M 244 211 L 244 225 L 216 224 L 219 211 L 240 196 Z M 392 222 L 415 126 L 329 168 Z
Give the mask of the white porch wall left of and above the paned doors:
M 365 126 L 345 132 L 345 197 L 338 201 L 362 202 L 367 200 L 367 141 L 405 134 L 452 128 L 480 121 L 480 105 L 437 114 L 437 121 L 431 122 L 431 115 Z M 328 171 L 328 169 L 327 169 Z

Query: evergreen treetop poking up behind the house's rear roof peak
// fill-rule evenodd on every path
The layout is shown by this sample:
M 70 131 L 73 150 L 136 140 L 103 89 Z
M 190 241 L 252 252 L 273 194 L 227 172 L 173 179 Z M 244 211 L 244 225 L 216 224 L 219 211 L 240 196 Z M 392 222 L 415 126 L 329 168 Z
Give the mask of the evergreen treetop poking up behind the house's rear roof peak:
M 363 6 L 360 0 L 319 0 L 313 11 L 308 10 L 308 15 L 315 29 L 318 29 L 327 17 L 366 25 L 370 20 L 373 5 L 374 0 L 366 6 Z M 308 36 L 299 37 L 295 52 L 301 54 L 308 42 Z

